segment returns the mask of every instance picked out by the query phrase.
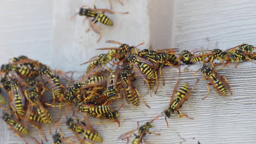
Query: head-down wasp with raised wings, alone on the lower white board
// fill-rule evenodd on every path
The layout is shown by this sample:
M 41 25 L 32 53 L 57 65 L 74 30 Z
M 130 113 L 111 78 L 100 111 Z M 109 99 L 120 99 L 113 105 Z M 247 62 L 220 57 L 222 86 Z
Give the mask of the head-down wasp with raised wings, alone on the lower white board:
M 189 100 L 189 98 L 191 96 L 191 93 L 192 93 L 192 91 L 193 91 L 193 89 L 196 86 L 196 83 L 198 81 L 199 80 L 197 79 L 197 81 L 195 82 L 193 88 L 191 88 L 191 89 L 189 89 L 189 85 L 188 85 L 187 82 L 185 82 L 178 89 L 178 85 L 179 85 L 179 76 L 178 76 L 177 83 L 176 83 L 176 85 L 175 85 L 175 87 L 173 89 L 172 95 L 171 95 L 171 100 L 170 100 L 169 106 L 164 110 L 164 113 L 165 113 L 166 117 L 171 117 L 172 113 L 177 111 L 179 117 L 185 116 L 185 117 L 189 118 L 187 115 L 184 115 L 181 112 L 180 108 L 181 108 L 182 104 L 185 101 Z M 174 100 L 175 94 L 176 94 L 177 99 Z M 169 127 L 166 117 L 165 117 L 165 121 L 167 123 L 167 127 Z M 193 118 L 190 118 L 190 119 L 193 119 Z

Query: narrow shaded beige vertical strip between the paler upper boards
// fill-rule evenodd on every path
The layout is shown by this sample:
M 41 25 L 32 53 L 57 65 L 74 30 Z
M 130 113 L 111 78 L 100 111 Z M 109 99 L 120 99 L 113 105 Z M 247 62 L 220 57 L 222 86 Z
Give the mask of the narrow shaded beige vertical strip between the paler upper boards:
M 174 48 L 174 2 L 149 0 L 149 43 L 154 50 Z

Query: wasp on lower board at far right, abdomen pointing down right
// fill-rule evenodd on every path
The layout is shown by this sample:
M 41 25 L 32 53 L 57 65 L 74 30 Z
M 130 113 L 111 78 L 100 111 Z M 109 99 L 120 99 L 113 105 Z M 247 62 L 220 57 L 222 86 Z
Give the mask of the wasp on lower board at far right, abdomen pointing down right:
M 216 70 L 208 67 L 206 64 L 203 65 L 203 67 L 200 68 L 199 70 L 201 70 L 202 75 L 205 76 L 205 77 L 203 77 L 203 80 L 210 81 L 210 83 L 207 84 L 208 93 L 204 98 L 202 98 L 203 100 L 208 97 L 208 94 L 211 91 L 211 89 L 209 87 L 210 85 L 212 85 L 212 87 L 215 89 L 215 91 L 219 95 L 226 96 L 226 89 L 228 89 L 228 91 L 232 95 L 228 80 L 226 80 L 225 76 L 219 76 L 217 74 Z M 197 70 L 197 71 L 199 71 L 199 70 Z M 194 75 L 197 73 L 197 71 L 194 73 Z

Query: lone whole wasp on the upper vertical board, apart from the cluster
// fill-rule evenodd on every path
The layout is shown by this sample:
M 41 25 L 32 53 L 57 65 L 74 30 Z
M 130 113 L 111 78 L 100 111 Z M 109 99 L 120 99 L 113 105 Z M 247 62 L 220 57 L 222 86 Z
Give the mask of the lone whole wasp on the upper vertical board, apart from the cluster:
M 85 9 L 85 7 L 88 7 L 88 8 Z M 112 11 L 112 10 L 109 10 L 109 9 L 96 9 L 96 8 L 91 9 L 89 7 L 89 5 L 82 5 L 80 7 L 79 12 L 77 14 L 75 14 L 73 17 L 75 17 L 78 14 L 80 16 L 85 16 L 86 18 L 84 19 L 84 21 L 86 19 L 88 19 L 89 27 L 95 33 L 100 34 L 100 38 L 98 38 L 98 40 L 97 40 L 97 42 L 98 42 L 98 41 L 101 40 L 102 33 L 101 33 L 101 28 L 96 26 L 95 24 L 99 21 L 99 22 L 103 23 L 104 25 L 113 26 L 113 22 L 104 13 L 108 13 L 108 14 L 114 14 L 114 13 L 128 14 L 128 12 L 121 13 L 121 12 Z M 71 19 L 73 19 L 73 17 Z M 92 17 L 93 19 L 91 20 L 89 17 Z M 86 32 L 88 32 L 90 30 L 90 28 Z

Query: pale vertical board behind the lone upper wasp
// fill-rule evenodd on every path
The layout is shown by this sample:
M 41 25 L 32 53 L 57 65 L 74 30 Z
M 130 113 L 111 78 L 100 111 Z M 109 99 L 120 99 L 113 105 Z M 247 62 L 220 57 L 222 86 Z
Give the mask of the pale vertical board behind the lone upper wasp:
M 97 26 L 102 29 L 102 39 L 96 43 L 99 35 L 90 30 L 88 20 L 83 22 L 84 17 L 71 17 L 79 11 L 82 5 L 89 4 L 92 8 L 93 1 L 54 1 L 53 20 L 53 62 L 62 70 L 84 70 L 85 66 L 79 64 L 88 61 L 104 51 L 96 51 L 102 47 L 117 47 L 116 44 L 106 44 L 106 40 L 117 40 L 129 45 L 137 45 L 145 42 L 143 47 L 148 47 L 149 42 L 149 16 L 148 1 L 123 1 L 124 6 L 118 1 L 113 1 L 113 10 L 129 14 L 106 14 L 113 20 L 114 26 L 106 26 L 98 22 Z M 97 1 L 97 8 L 109 8 L 108 1 Z M 106 52 L 106 51 L 105 51 Z

